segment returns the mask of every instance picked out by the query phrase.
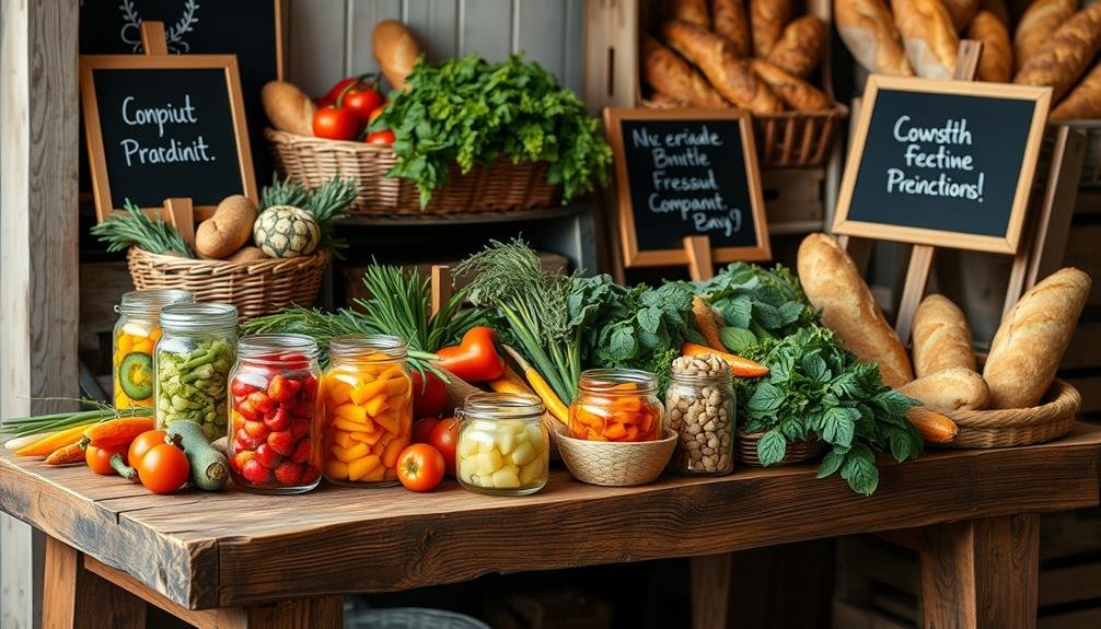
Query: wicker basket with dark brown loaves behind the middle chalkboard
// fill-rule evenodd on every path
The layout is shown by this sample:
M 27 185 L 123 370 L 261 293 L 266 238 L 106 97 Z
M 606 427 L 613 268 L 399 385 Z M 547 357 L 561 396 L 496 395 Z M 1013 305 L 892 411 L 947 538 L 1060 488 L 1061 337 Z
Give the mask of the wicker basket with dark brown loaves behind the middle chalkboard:
M 748 8 L 748 9 L 746 9 Z M 821 165 L 848 109 L 821 66 L 829 26 L 788 0 L 675 0 L 640 42 L 643 106 L 749 110 L 764 167 Z

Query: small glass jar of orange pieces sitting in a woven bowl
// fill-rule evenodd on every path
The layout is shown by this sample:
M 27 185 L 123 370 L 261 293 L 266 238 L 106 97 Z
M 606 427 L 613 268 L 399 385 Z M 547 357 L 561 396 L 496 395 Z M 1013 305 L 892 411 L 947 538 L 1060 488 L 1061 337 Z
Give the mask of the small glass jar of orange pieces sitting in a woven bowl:
M 642 369 L 587 369 L 569 406 L 569 435 L 589 441 L 655 441 L 665 409 L 657 377 Z

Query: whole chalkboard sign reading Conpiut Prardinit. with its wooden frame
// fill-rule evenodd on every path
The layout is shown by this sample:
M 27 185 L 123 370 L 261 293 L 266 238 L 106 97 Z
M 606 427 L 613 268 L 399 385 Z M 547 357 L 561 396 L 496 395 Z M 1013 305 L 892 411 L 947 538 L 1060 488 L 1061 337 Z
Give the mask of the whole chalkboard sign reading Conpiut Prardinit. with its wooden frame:
M 81 56 L 80 96 L 99 220 L 127 199 L 189 197 L 198 219 L 231 195 L 257 200 L 233 56 Z

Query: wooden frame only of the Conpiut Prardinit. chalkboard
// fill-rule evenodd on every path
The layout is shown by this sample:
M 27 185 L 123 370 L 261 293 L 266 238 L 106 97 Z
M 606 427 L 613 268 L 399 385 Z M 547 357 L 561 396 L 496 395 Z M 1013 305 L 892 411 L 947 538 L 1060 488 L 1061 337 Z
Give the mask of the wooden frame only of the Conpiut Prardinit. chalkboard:
M 249 145 L 241 77 L 237 69 L 236 55 L 80 55 L 80 100 L 84 109 L 88 165 L 91 170 L 92 199 L 96 202 L 97 220 L 102 222 L 116 211 L 111 203 L 111 184 L 107 175 L 103 133 L 99 124 L 99 102 L 96 98 L 96 81 L 92 76 L 92 73 L 99 69 L 221 69 L 226 77 L 227 98 L 229 98 L 229 109 L 233 117 L 233 136 L 237 141 L 241 188 L 246 197 L 254 202 L 260 201 L 260 192 L 252 170 L 252 148 Z M 163 208 L 153 206 L 142 209 L 159 213 Z M 214 210 L 215 206 L 196 206 L 195 218 L 205 220 L 214 213 Z

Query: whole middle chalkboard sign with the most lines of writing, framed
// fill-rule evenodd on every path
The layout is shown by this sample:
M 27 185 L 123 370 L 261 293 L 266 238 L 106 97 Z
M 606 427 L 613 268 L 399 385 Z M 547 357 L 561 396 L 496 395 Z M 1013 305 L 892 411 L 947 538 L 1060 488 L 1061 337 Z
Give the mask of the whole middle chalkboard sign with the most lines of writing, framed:
M 753 130 L 738 110 L 606 109 L 624 266 L 687 262 L 706 235 L 716 262 L 771 256 Z

